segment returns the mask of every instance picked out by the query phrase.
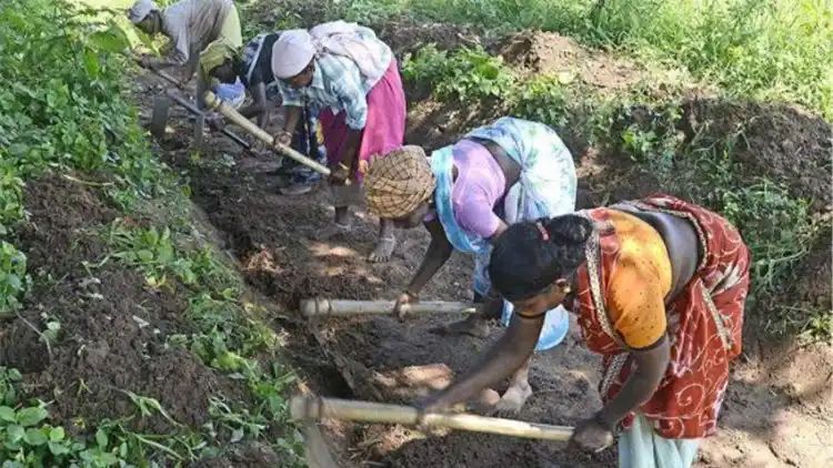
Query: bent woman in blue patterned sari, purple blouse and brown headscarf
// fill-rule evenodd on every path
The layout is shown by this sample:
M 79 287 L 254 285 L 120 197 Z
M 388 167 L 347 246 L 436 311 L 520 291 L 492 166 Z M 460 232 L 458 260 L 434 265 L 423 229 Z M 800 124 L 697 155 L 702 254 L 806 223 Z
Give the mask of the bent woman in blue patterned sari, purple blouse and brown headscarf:
M 474 255 L 476 314 L 442 327 L 450 335 L 485 337 L 488 319 L 508 324 L 512 305 L 495 294 L 488 265 L 492 241 L 509 225 L 572 213 L 575 207 L 572 155 L 551 128 L 502 118 L 434 151 L 430 159 L 418 146 L 404 146 L 371 165 L 367 175 L 368 206 L 401 228 L 424 224 L 431 244 L 419 269 L 397 299 L 394 312 L 419 301 L 419 293 L 456 250 Z M 549 311 L 536 350 L 556 346 L 568 332 L 562 307 Z M 532 394 L 529 363 L 515 373 L 498 404 L 519 410 Z

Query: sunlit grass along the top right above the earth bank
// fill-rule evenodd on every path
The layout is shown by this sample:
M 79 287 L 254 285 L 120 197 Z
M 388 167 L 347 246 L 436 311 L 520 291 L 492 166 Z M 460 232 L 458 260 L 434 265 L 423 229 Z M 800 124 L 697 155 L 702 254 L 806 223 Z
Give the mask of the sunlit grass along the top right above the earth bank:
M 541 29 L 680 67 L 733 96 L 797 102 L 833 119 L 833 0 L 344 0 L 327 19 L 410 16 Z

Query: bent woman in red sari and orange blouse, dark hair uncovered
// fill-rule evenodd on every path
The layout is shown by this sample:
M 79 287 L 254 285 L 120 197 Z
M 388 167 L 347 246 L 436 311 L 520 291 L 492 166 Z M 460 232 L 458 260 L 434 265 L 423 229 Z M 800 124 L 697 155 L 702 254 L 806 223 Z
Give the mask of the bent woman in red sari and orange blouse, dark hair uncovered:
M 512 225 L 489 271 L 516 316 L 468 375 L 420 407 L 452 406 L 511 375 L 532 353 L 543 311 L 563 304 L 603 366 L 604 406 L 572 441 L 599 451 L 622 429 L 621 467 L 691 466 L 741 352 L 749 266 L 726 220 L 672 196 Z

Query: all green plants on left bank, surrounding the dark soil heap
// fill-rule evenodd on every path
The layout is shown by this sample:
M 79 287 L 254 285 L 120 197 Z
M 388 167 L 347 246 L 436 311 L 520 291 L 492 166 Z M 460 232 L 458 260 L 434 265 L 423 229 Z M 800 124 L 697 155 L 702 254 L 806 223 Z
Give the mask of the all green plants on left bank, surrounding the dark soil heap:
M 0 368 L 3 467 L 182 466 L 253 439 L 273 446 L 282 466 L 300 466 L 300 436 L 287 420 L 283 397 L 294 376 L 277 364 L 280 339 L 262 321 L 262 308 L 242 299 L 240 278 L 200 240 L 183 211 L 187 187 L 149 151 L 126 98 L 129 63 L 118 53 L 126 32 L 99 12 L 52 0 L 3 2 L 0 28 L 0 79 L 8 84 L 0 90 L 0 235 L 13 238 L 26 220 L 27 181 L 51 172 L 100 189 L 123 217 L 102 233 L 112 252 L 87 267 L 119 262 L 139 271 L 147 287 L 184 295 L 192 333 L 169 336 L 168 346 L 244 383 L 251 397 L 217 394 L 209 424 L 187 427 L 159 400 L 121 390 L 133 403 L 132 415 L 96 427 L 79 418 L 70 431 L 50 424 L 48 401 L 21 397 L 20 373 Z M 73 173 L 86 174 L 84 181 Z M 128 217 L 153 225 L 139 227 Z M 30 283 L 26 254 L 2 241 L 0 313 L 16 314 Z M 60 322 L 43 323 L 41 339 L 57 343 Z M 80 380 L 78 391 L 86 388 Z M 167 420 L 170 431 L 143 434 L 131 425 L 151 417 Z

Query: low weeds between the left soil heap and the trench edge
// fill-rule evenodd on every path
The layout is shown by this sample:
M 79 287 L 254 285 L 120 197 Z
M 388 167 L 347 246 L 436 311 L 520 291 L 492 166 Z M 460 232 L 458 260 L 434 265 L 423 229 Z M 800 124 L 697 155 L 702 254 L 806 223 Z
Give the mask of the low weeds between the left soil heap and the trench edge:
M 279 345 L 273 330 L 260 323 L 255 306 L 242 303 L 242 285 L 229 267 L 220 262 L 209 247 L 185 248 L 190 228 L 182 220 L 169 220 L 170 227 L 145 228 L 114 222 L 108 240 L 116 252 L 112 257 L 138 268 L 145 275 L 148 284 L 159 286 L 181 283 L 189 292 L 188 318 L 197 332 L 190 335 L 171 335 L 169 346 L 193 353 L 207 366 L 243 380 L 255 398 L 254 407 L 245 408 L 213 397 L 210 406 L 211 423 L 207 430 L 205 449 L 213 447 L 212 440 L 227 429 L 230 441 L 242 438 L 263 437 L 273 425 L 291 426 L 282 391 L 294 381 L 294 375 L 280 372 L 280 366 L 263 369 L 257 356 L 272 353 Z M 142 414 L 160 413 L 158 401 L 131 396 Z M 300 435 L 290 430 L 284 437 L 272 440 L 277 450 L 289 459 L 300 462 Z M 147 442 L 147 440 L 145 440 Z M 145 444 L 147 445 L 147 444 Z

